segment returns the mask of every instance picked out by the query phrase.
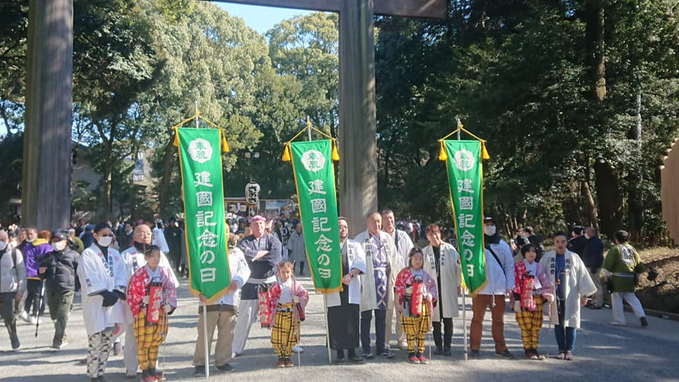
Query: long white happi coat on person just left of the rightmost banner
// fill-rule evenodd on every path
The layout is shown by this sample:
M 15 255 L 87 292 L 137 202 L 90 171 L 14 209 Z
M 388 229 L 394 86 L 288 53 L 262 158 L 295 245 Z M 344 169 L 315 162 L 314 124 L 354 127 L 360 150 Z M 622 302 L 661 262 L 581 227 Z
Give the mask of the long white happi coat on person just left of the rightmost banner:
M 441 243 L 441 285 L 438 285 L 439 280 L 436 274 L 434 248 L 431 248 L 431 245 L 427 245 L 422 249 L 422 254 L 424 255 L 424 270 L 434 278 L 437 287 L 441 289 L 439 303 L 443 307 L 443 318 L 460 316 L 458 312 L 458 287 L 462 284 L 462 280 L 460 279 L 460 255 L 458 251 L 455 250 L 453 245 Z M 441 321 L 441 313 L 438 306 L 434 308 L 431 319 L 436 322 Z

